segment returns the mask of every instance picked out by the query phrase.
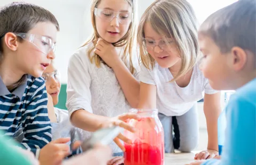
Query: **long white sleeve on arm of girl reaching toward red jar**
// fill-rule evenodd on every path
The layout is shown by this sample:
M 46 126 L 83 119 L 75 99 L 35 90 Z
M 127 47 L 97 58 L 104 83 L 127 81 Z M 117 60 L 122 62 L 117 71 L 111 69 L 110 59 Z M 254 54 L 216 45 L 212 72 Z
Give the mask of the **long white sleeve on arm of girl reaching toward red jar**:
M 75 53 L 68 64 L 67 103 L 69 117 L 78 110 L 93 112 L 91 107 L 91 76 L 89 74 L 89 59 L 86 54 Z

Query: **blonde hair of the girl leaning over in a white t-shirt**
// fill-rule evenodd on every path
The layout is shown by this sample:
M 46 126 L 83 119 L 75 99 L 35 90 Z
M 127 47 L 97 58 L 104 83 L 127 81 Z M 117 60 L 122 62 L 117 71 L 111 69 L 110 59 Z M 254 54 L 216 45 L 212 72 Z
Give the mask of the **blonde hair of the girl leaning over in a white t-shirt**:
M 138 47 L 142 64 L 153 69 L 155 60 L 148 55 L 144 43 L 143 27 L 146 22 L 161 36 L 175 39 L 182 64 L 172 81 L 179 79 L 194 67 L 200 56 L 193 8 L 186 0 L 157 0 L 143 13 L 138 28 Z

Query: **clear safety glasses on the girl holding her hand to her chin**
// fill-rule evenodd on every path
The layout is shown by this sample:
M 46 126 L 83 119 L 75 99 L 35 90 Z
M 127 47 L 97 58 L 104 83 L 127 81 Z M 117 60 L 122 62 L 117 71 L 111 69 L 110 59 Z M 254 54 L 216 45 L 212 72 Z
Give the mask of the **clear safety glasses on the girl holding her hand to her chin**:
M 131 12 L 114 12 L 112 10 L 102 8 L 94 8 L 94 15 L 105 22 L 110 22 L 115 17 L 121 24 L 129 24 L 132 20 Z

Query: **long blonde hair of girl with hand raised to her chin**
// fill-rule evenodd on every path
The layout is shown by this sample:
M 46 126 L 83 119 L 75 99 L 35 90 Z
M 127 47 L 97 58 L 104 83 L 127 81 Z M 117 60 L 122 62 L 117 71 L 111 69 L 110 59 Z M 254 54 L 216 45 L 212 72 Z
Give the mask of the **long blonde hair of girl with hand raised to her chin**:
M 123 62 L 125 62 L 126 64 L 126 59 L 127 59 L 127 56 L 129 56 L 129 60 L 130 60 L 130 71 L 131 73 L 134 73 L 134 66 L 132 64 L 132 55 L 133 55 L 133 52 L 132 52 L 132 49 L 133 49 L 133 42 L 134 42 L 134 32 L 135 32 L 135 20 L 134 20 L 134 15 L 135 15 L 135 5 L 134 5 L 134 0 L 125 0 L 127 1 L 130 5 L 131 5 L 131 8 L 132 8 L 132 21 L 130 23 L 130 26 L 129 26 L 129 29 L 127 31 L 127 33 L 125 34 L 125 36 L 123 38 L 121 38 L 119 41 L 113 43 L 113 45 L 115 47 L 122 47 L 122 46 L 125 46 L 124 48 L 124 54 L 122 55 L 122 60 Z M 91 21 L 92 21 L 92 25 L 93 25 L 93 30 L 94 30 L 94 33 L 92 34 L 92 37 L 87 40 L 85 42 L 85 44 L 83 46 L 86 46 L 88 44 L 90 44 L 91 42 L 93 42 L 93 47 L 91 49 L 89 49 L 88 51 L 88 57 L 90 58 L 90 62 L 91 63 L 95 63 L 95 65 L 97 67 L 100 67 L 100 63 L 101 63 L 101 58 L 100 56 L 98 56 L 97 54 L 93 54 L 93 56 L 91 56 L 91 53 L 93 51 L 93 49 L 95 48 L 95 41 L 98 40 L 98 38 L 100 37 L 98 31 L 97 31 L 97 28 L 96 28 L 96 24 L 95 24 L 95 16 L 94 16 L 94 9 L 97 8 L 97 6 L 100 4 L 101 0 L 93 0 L 92 1 L 92 5 L 91 5 Z M 82 46 L 82 47 L 83 47 Z

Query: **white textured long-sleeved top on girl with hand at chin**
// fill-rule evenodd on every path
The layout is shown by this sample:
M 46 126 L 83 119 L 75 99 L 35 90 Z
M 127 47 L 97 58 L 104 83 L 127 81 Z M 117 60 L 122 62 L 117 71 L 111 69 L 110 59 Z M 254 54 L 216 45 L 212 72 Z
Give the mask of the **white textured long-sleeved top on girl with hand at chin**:
M 79 48 L 69 61 L 66 103 L 69 116 L 78 109 L 108 117 L 128 112 L 131 107 L 113 69 L 103 63 L 98 68 L 90 62 L 87 51 L 92 46 L 91 43 Z M 129 59 L 127 63 L 129 64 Z M 134 76 L 139 80 L 140 67 L 135 54 L 133 65 L 136 69 Z M 90 133 L 86 132 L 84 137 L 90 137 Z M 110 146 L 114 153 L 122 152 L 114 143 Z

